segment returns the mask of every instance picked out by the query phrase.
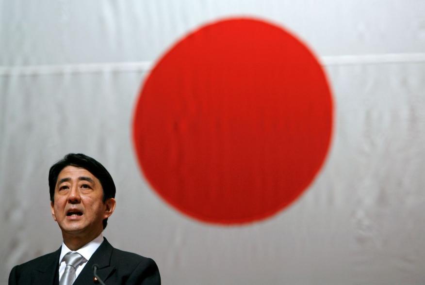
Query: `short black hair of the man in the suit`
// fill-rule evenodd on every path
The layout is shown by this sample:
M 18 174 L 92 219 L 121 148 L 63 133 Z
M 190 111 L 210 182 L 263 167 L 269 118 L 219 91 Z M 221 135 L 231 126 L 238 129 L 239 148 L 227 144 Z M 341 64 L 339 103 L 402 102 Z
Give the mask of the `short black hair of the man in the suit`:
M 49 192 L 50 192 L 50 201 L 54 203 L 54 194 L 56 182 L 58 180 L 59 173 L 66 166 L 75 166 L 84 168 L 93 174 L 96 178 L 99 179 L 100 184 L 103 189 L 103 203 L 109 198 L 115 197 L 115 184 L 112 179 L 111 174 L 106 170 L 106 168 L 100 164 L 96 159 L 86 156 L 81 153 L 70 153 L 65 155 L 65 157 L 50 167 L 49 170 Z M 108 223 L 108 218 L 103 220 L 103 229 L 106 228 Z

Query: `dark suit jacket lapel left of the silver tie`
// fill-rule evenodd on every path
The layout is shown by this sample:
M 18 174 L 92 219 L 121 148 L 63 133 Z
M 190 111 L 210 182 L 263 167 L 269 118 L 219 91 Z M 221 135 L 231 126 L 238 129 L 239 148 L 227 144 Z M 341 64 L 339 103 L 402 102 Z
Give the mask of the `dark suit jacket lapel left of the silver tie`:
M 58 266 L 61 248 L 54 253 L 46 256 L 43 263 L 40 263 L 37 268 L 33 270 L 32 283 L 33 284 L 58 284 Z

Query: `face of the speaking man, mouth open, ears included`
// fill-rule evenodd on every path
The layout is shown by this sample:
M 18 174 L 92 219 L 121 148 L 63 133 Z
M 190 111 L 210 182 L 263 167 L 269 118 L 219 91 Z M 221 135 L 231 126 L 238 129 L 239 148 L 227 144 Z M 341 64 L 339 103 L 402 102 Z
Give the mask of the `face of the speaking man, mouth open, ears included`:
M 115 208 L 114 198 L 105 203 L 102 198 L 98 178 L 84 168 L 66 166 L 58 175 L 54 203 L 50 203 L 62 234 L 96 238 L 103 230 L 103 219 Z

